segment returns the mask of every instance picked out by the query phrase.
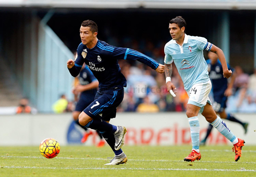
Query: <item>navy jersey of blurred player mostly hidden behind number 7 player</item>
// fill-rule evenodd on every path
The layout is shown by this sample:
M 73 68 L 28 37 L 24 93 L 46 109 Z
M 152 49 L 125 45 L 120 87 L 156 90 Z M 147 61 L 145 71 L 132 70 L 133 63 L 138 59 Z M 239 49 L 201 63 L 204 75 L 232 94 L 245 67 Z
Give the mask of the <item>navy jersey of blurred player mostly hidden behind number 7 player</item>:
M 92 74 L 92 72 L 90 71 L 90 69 L 88 68 L 88 66 L 86 66 L 83 70 L 80 71 L 79 73 L 79 83 L 81 85 L 87 85 L 91 82 L 97 81 L 97 79 L 95 78 L 94 74 Z M 81 93 L 81 95 L 87 95 L 87 94 L 92 94 L 92 95 L 96 95 L 97 93 L 97 88 L 91 89 L 91 90 L 87 90 Z

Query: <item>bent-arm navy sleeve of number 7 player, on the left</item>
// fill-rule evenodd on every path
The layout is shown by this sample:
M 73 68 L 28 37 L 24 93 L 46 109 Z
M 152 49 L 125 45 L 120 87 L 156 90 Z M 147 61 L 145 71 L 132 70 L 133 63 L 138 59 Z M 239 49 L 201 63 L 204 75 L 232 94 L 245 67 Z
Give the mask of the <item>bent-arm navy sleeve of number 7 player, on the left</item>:
M 82 56 L 82 51 L 83 50 L 83 46 L 82 43 L 79 44 L 78 48 L 77 48 L 77 53 L 76 53 L 76 58 L 75 58 L 75 66 L 72 67 L 71 69 L 68 68 L 69 72 L 71 73 L 71 75 L 73 77 L 77 77 L 77 75 L 79 74 L 83 64 L 84 64 L 84 58 Z

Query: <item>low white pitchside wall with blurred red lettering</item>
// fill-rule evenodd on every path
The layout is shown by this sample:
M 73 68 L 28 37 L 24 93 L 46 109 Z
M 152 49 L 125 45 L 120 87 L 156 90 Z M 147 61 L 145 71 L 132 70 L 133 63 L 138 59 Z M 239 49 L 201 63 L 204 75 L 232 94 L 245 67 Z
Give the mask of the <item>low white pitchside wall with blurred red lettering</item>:
M 225 121 L 229 129 L 238 137 L 245 139 L 247 145 L 256 145 L 255 114 L 236 114 L 249 122 L 248 132 L 238 123 Z M 200 115 L 201 138 L 205 136 L 208 123 Z M 190 128 L 185 113 L 118 113 L 112 124 L 127 128 L 125 145 L 185 145 L 191 144 Z M 39 145 L 47 137 L 55 138 L 61 145 L 80 144 L 83 130 L 73 122 L 71 113 L 60 115 L 14 115 L 0 117 L 0 146 Z M 93 130 L 92 130 L 93 131 Z M 99 137 L 89 136 L 86 146 L 96 145 Z M 207 144 L 230 144 L 215 129 Z

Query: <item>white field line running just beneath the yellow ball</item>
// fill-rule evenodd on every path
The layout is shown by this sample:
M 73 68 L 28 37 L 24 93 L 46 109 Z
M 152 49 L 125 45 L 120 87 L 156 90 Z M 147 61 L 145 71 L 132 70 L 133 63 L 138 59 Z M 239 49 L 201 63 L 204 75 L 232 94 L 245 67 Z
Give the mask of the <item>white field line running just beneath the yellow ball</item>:
M 45 157 L 36 157 L 36 156 L 0 156 L 3 158 L 39 158 L 39 159 L 44 159 Z M 55 159 L 70 159 L 70 160 L 76 160 L 76 159 L 80 159 L 80 160 L 108 160 L 107 158 L 73 158 L 73 157 L 55 157 Z M 129 161 L 155 161 L 155 162 L 184 162 L 183 160 L 145 160 L 145 159 L 128 159 Z M 235 161 L 196 161 L 197 162 L 204 162 L 204 163 L 256 163 L 256 162 L 245 162 L 245 161 L 239 161 L 239 162 L 235 162 Z

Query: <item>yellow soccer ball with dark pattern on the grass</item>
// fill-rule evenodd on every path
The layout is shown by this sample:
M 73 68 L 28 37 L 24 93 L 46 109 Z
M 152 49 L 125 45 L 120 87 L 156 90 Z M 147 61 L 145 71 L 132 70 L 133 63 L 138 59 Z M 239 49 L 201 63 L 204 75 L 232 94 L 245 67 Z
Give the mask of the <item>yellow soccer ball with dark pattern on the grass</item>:
M 39 148 L 41 155 L 48 159 L 56 157 L 61 150 L 60 144 L 53 138 L 43 140 Z

